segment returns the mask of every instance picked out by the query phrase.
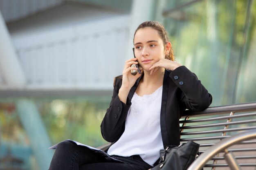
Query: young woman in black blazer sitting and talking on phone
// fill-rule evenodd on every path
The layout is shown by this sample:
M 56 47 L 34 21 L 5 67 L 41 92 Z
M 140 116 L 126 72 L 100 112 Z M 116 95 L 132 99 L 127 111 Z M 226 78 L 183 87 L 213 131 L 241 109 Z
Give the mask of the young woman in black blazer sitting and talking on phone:
M 50 170 L 147 170 L 157 164 L 159 150 L 180 144 L 179 119 L 184 110 L 200 111 L 211 95 L 188 68 L 174 61 L 164 27 L 143 22 L 134 34 L 136 58 L 115 77 L 101 133 L 111 142 L 111 159 L 72 141 L 61 142 Z M 132 65 L 139 64 L 141 74 Z

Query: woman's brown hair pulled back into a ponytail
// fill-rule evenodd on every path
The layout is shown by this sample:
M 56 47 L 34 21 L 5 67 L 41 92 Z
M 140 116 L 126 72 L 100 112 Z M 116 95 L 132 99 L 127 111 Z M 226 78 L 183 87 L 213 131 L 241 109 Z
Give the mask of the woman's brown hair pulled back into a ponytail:
M 160 24 L 157 21 L 146 21 L 146 22 L 141 23 L 138 26 L 138 28 L 136 29 L 136 31 L 134 33 L 134 36 L 133 36 L 133 43 L 134 43 L 134 37 L 135 37 L 135 34 L 137 33 L 137 31 L 139 29 L 145 28 L 145 27 L 151 27 L 151 28 L 157 30 L 160 38 L 163 40 L 164 46 L 166 45 L 167 42 L 170 41 L 169 38 L 168 38 L 167 32 L 164 29 L 164 26 L 162 24 Z M 169 51 L 169 53 L 167 55 L 165 55 L 165 59 L 174 61 L 173 47 L 171 47 L 171 50 Z

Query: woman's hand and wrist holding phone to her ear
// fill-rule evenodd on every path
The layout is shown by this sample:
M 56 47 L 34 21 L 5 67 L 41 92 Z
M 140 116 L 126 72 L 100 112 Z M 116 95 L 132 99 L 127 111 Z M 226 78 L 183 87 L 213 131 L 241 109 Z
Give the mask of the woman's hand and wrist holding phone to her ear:
M 137 73 L 136 75 L 132 75 L 131 71 L 137 70 L 136 67 L 131 67 L 132 64 L 138 64 L 137 58 L 131 58 L 125 62 L 124 70 L 123 70 L 122 85 L 121 85 L 121 88 L 119 89 L 119 94 L 118 94 L 119 99 L 125 104 L 126 104 L 126 99 L 130 89 L 132 88 L 136 80 L 141 75 L 139 73 Z

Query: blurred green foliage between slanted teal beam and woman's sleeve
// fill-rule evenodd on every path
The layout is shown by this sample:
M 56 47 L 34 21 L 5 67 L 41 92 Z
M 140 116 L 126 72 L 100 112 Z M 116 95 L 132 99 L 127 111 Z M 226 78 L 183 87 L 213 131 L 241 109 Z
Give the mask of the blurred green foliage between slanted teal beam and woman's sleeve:
M 108 97 L 110 98 L 110 97 Z M 54 99 L 38 102 L 42 119 L 52 144 L 72 139 L 90 146 L 100 146 L 100 124 L 110 101 L 90 99 Z

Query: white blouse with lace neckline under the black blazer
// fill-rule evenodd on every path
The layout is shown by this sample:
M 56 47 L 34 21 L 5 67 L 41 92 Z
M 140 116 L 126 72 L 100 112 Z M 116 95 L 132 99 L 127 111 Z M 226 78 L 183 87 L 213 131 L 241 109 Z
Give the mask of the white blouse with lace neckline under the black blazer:
M 160 128 L 162 89 L 163 86 L 150 95 L 139 96 L 134 93 L 124 133 L 110 146 L 108 155 L 140 155 L 153 166 L 159 158 L 159 150 L 164 148 Z

